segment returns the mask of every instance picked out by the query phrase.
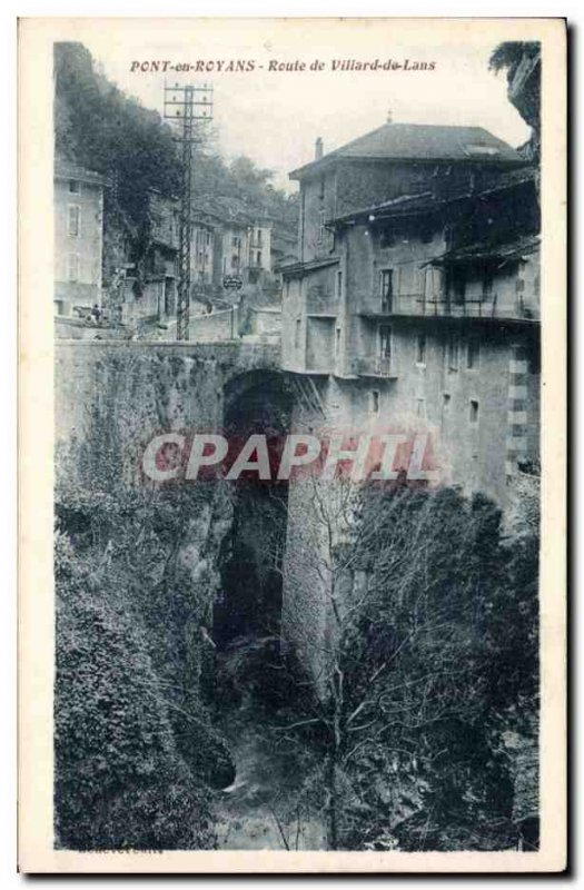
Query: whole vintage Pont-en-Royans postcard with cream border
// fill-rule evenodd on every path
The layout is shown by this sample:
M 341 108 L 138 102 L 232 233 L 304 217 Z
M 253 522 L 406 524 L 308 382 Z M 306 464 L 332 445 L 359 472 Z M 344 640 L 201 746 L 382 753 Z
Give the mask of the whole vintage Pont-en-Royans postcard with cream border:
M 22 871 L 565 869 L 565 42 L 20 20 Z

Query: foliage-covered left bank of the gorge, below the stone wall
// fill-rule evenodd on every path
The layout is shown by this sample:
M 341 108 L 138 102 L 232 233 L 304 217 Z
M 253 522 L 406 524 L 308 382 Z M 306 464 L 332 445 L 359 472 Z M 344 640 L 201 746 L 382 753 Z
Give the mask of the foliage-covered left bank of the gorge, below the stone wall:
M 209 848 L 211 789 L 234 777 L 201 694 L 229 505 L 216 486 L 129 485 L 123 403 L 118 387 L 93 406 L 83 444 L 58 462 L 56 837 L 68 849 Z

